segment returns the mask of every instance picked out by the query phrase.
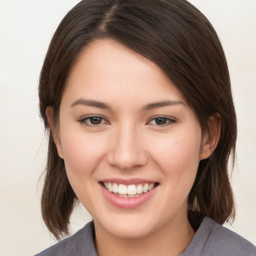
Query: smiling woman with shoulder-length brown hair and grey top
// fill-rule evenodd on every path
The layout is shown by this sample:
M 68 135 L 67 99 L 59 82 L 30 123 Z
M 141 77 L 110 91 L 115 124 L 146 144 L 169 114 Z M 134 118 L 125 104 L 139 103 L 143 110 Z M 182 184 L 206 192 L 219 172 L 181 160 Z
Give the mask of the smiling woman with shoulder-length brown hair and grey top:
M 38 255 L 256 255 L 234 217 L 236 118 L 209 21 L 184 0 L 83 0 L 59 24 L 39 84 L 49 130 L 41 199 L 68 233 Z M 233 158 L 232 158 L 233 159 Z

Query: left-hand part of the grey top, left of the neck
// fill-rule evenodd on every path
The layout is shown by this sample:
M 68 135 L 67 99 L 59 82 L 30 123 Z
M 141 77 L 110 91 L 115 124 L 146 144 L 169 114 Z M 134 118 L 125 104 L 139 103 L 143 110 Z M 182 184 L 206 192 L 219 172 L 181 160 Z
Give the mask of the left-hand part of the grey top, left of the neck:
M 97 256 L 94 247 L 94 225 L 93 222 L 87 223 L 82 229 L 73 235 L 57 242 L 35 256 L 76 256 L 83 255 Z

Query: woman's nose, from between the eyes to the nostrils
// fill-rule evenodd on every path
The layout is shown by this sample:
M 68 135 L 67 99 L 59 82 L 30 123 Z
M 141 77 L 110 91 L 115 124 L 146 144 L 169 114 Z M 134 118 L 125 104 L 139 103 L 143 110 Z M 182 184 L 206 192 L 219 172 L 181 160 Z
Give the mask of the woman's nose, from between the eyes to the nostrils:
M 120 169 L 128 170 L 143 166 L 148 160 L 143 146 L 142 134 L 132 125 L 120 127 L 111 136 L 111 150 L 107 154 L 107 161 Z

